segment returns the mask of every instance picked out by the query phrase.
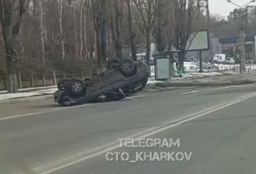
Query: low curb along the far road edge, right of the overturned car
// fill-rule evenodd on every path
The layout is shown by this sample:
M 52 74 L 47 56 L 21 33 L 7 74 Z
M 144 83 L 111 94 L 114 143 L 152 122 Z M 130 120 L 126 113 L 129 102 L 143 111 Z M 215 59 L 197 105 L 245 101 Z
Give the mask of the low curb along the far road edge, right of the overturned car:
M 249 85 L 255 81 L 230 81 L 230 82 L 219 82 L 219 83 L 155 83 L 158 87 L 184 87 L 184 86 L 233 86 L 233 85 Z

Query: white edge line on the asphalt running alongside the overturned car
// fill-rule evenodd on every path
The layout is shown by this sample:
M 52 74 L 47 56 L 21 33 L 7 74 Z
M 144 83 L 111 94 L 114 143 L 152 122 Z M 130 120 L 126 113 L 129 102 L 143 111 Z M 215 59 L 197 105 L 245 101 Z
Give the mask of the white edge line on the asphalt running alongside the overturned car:
M 129 98 L 138 98 L 144 95 L 137 95 L 137 96 L 130 96 L 124 99 L 129 99 Z M 2 116 L 0 117 L 0 122 L 1 121 L 6 121 L 6 120 L 10 120 L 10 119 L 16 119 L 16 118 L 20 118 L 20 117 L 27 117 L 27 116 L 34 116 L 34 115 L 38 115 L 38 114 L 45 114 L 45 113 L 51 113 L 51 112 L 56 112 L 56 111 L 63 111 L 65 109 L 74 109 L 74 108 L 82 108 L 82 107 L 86 107 L 86 106 L 92 106 L 95 104 L 103 104 L 103 103 L 87 103 L 87 104 L 82 104 L 82 105 L 77 105 L 77 106 L 67 106 L 67 107 L 61 107 L 60 108 L 56 108 L 56 109 L 51 109 L 51 110 L 47 110 L 47 111 L 41 111 L 41 112 L 29 112 L 26 114 L 18 114 L 15 116 Z

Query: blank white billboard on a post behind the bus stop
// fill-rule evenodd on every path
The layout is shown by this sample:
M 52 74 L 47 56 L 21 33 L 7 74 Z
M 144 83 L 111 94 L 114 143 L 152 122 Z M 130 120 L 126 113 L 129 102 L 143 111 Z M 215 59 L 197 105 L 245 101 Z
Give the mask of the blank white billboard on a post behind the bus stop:
M 209 32 L 200 30 L 193 32 L 187 40 L 187 51 L 209 50 Z

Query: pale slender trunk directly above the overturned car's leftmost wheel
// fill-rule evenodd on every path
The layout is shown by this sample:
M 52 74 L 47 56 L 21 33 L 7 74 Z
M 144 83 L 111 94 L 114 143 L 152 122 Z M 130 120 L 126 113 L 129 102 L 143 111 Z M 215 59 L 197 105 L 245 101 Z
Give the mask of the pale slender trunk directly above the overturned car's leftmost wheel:
M 65 47 L 64 47 L 64 35 L 62 29 L 62 0 L 58 0 L 58 12 L 59 12 L 59 32 L 61 35 L 61 58 L 65 59 Z

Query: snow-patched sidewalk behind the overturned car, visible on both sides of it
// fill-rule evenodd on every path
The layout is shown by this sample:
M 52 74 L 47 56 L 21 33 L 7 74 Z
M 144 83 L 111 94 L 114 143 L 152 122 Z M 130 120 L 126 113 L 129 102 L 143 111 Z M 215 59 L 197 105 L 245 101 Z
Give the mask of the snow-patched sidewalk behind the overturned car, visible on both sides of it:
M 250 66 L 247 68 L 247 70 L 250 68 Z M 256 65 L 251 68 L 256 69 Z M 253 73 L 254 72 L 254 73 Z M 253 77 L 252 74 L 255 74 Z M 147 86 L 195 86 L 195 85 L 205 85 L 209 86 L 213 83 L 219 83 L 222 82 L 225 83 L 231 83 L 231 79 L 233 81 L 237 81 L 234 79 L 239 79 L 239 78 L 245 78 L 247 77 L 247 82 L 240 82 L 240 83 L 250 83 L 249 81 L 256 81 L 256 72 L 252 71 L 250 73 L 245 73 L 241 75 L 239 71 L 233 72 L 233 71 L 228 71 L 228 72 L 205 72 L 205 73 L 198 73 L 198 72 L 190 72 L 187 73 L 187 75 L 184 76 L 184 78 L 172 78 L 168 81 L 155 81 L 154 78 L 154 70 L 151 72 L 151 77 L 147 81 Z M 220 78 L 222 80 L 220 80 Z M 229 82 L 228 82 L 229 81 Z M 232 82 L 233 82 L 232 81 Z M 240 80 L 241 81 L 241 80 Z M 195 84 L 196 83 L 196 84 Z M 238 82 L 236 82 L 238 83 Z M 34 97 L 34 96 L 46 96 L 46 95 L 51 95 L 57 90 L 57 86 L 42 86 L 42 87 L 36 87 L 36 88 L 24 88 L 24 89 L 19 89 L 18 93 L 7 93 L 7 91 L 0 91 L 0 101 L 5 101 L 5 100 L 11 100 L 11 99 L 21 99 L 21 98 L 29 98 L 29 97 Z

